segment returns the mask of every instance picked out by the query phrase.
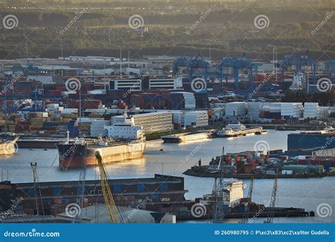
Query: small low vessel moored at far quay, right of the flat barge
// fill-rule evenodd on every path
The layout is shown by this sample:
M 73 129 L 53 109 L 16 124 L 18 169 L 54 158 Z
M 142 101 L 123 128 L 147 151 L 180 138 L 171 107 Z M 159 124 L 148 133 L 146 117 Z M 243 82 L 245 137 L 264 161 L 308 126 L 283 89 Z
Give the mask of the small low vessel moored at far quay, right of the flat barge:
M 228 124 L 225 128 L 219 130 L 216 134 L 218 137 L 237 137 L 245 134 L 261 134 L 263 127 L 245 127 L 240 123 Z

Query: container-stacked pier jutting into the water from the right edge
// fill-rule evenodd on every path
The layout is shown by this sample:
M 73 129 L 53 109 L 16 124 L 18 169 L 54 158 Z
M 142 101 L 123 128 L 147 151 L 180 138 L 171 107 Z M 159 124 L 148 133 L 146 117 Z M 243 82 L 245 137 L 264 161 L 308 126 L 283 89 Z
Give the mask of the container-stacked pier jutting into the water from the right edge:
M 298 156 L 297 153 L 298 152 Z M 301 154 L 301 152 L 304 152 Z M 288 153 L 291 156 L 288 156 Z M 305 149 L 299 151 L 244 151 L 225 154 L 202 165 L 199 159 L 196 166 L 184 171 L 185 175 L 200 177 L 266 179 L 266 178 L 322 178 L 335 175 L 335 149 Z M 222 171 L 221 171 L 222 169 Z

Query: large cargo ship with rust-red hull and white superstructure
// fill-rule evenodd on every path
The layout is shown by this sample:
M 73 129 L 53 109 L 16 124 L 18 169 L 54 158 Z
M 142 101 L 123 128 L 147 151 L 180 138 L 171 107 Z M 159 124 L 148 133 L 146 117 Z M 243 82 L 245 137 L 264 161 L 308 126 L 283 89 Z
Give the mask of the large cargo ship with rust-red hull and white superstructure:
M 138 159 L 143 156 L 146 138 L 141 126 L 135 126 L 132 118 L 124 122 L 105 126 L 108 137 L 99 139 L 69 139 L 56 144 L 59 152 L 59 166 L 78 168 L 97 165 L 95 152 L 99 151 L 104 163 Z

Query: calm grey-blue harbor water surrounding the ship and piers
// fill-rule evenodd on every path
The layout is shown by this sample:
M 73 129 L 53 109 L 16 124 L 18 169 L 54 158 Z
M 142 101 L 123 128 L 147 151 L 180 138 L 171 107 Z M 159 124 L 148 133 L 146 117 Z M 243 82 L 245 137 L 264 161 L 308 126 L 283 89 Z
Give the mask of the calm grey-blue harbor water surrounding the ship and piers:
M 182 173 L 201 159 L 208 164 L 212 157 L 225 152 L 253 151 L 255 145 L 269 145 L 269 149 L 287 149 L 287 134 L 292 131 L 268 130 L 267 134 L 250 135 L 246 137 L 204 139 L 197 142 L 181 144 L 165 144 L 162 140 L 147 142 L 145 155 L 141 159 L 106 164 L 110 178 L 150 178 L 155 173 L 177 175 L 184 177 L 185 197 L 194 199 L 210 193 L 213 189 L 213 178 L 199 178 Z M 58 166 L 57 149 L 18 149 L 13 156 L 0 158 L 1 180 L 11 180 L 12 183 L 33 182 L 30 162 L 37 162 L 40 182 L 78 180 L 79 169 L 64 171 Z M 99 179 L 98 168 L 90 166 L 86 170 L 87 180 Z M 249 180 L 245 195 L 249 189 Z M 271 197 L 274 180 L 257 179 L 254 184 L 254 202 L 264 204 Z M 276 207 L 302 207 L 317 212 L 319 204 L 327 203 L 335 208 L 335 177 L 300 178 L 278 180 L 278 196 Z M 334 209 L 333 209 L 334 210 Z M 238 219 L 228 219 L 228 222 L 238 222 Z M 254 222 L 263 222 L 255 219 Z M 199 222 L 199 221 L 188 221 Z M 208 222 L 208 221 L 202 221 Z M 282 223 L 329 223 L 335 222 L 334 211 L 329 217 L 298 217 L 274 218 L 274 222 Z

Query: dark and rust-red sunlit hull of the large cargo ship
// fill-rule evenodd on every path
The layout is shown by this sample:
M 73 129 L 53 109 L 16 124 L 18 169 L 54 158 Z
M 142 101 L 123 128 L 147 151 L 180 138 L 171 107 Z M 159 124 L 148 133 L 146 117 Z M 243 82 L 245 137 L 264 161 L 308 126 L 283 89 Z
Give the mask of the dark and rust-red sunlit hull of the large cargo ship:
M 59 151 L 59 166 L 62 168 L 78 168 L 82 166 L 96 166 L 95 152 L 99 151 L 103 163 L 139 159 L 143 156 L 146 142 L 134 142 L 92 148 L 83 144 L 56 144 Z

